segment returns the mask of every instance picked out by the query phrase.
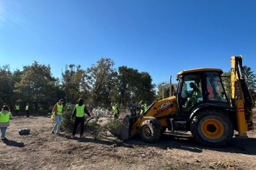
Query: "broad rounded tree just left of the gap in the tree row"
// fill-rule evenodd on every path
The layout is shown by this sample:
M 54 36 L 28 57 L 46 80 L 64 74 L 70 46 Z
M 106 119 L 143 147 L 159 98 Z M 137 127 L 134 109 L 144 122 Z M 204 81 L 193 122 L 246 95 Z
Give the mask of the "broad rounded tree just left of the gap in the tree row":
M 51 67 L 35 61 L 31 66 L 23 67 L 23 77 L 15 84 L 14 91 L 20 103 L 33 103 L 37 112 L 38 106 L 47 109 L 57 100 L 58 84 L 51 75 Z

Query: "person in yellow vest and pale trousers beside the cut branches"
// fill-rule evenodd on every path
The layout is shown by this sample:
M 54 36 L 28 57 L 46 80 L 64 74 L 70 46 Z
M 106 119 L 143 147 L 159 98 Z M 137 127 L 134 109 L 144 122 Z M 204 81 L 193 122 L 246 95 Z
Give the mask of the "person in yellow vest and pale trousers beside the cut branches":
M 63 99 L 60 99 L 58 103 L 54 105 L 52 112 L 54 112 L 55 124 L 52 128 L 52 134 L 56 132 L 56 135 L 60 134 L 60 126 L 62 126 L 62 109 L 63 109 Z

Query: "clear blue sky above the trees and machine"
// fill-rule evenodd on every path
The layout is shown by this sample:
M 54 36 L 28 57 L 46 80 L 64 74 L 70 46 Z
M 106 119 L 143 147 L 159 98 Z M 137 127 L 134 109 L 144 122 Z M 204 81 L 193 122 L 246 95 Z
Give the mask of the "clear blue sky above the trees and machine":
M 0 66 L 36 60 L 60 77 L 65 64 L 105 57 L 160 83 L 183 69 L 228 71 L 243 55 L 256 72 L 255 9 L 254 0 L 0 0 Z

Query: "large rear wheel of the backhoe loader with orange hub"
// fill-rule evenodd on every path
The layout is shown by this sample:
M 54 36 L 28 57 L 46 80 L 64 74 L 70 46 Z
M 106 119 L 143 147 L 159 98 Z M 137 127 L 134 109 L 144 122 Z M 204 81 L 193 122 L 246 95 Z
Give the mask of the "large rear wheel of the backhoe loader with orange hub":
M 230 118 L 215 109 L 199 112 L 191 121 L 190 131 L 194 139 L 204 146 L 224 146 L 233 137 L 233 124 Z

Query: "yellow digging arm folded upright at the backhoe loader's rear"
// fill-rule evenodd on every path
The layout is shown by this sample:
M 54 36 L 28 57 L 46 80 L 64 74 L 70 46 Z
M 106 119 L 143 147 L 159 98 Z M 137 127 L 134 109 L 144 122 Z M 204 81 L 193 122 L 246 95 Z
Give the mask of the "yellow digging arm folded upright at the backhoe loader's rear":
M 236 108 L 238 133 L 246 137 L 246 131 L 254 130 L 252 123 L 253 100 L 246 84 L 242 56 L 231 57 L 232 105 Z

